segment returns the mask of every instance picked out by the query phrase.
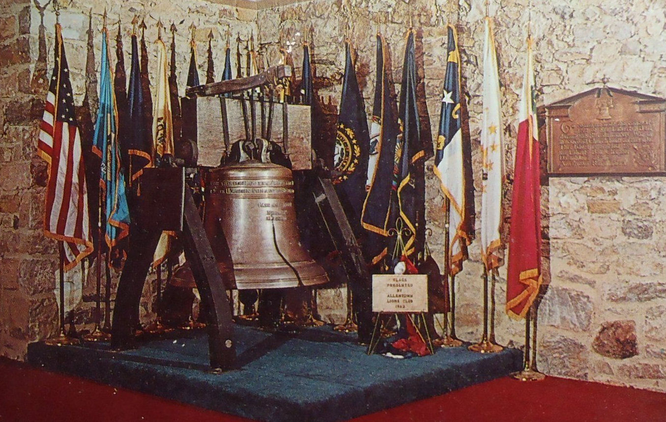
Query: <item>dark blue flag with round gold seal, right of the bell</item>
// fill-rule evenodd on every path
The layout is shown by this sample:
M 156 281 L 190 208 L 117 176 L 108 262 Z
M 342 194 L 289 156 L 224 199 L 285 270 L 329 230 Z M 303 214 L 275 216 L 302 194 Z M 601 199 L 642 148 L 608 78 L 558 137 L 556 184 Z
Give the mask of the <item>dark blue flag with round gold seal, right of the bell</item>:
M 370 136 L 365 105 L 356 79 L 352 47 L 346 43 L 342 99 L 334 149 L 334 183 L 356 236 L 362 234 L 361 213 L 366 199 Z

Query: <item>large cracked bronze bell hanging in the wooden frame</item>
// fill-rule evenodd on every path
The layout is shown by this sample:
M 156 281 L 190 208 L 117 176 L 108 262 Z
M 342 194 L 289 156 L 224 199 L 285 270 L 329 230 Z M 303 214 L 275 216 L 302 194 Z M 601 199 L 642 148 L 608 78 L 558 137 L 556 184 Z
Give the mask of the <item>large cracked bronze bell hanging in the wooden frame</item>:
M 246 160 L 211 170 L 206 183 L 204 227 L 224 233 L 236 288 L 313 286 L 328 276 L 300 245 L 291 170 L 272 162 Z M 220 245 L 212 245 L 213 250 Z M 216 252 L 220 271 L 229 263 Z

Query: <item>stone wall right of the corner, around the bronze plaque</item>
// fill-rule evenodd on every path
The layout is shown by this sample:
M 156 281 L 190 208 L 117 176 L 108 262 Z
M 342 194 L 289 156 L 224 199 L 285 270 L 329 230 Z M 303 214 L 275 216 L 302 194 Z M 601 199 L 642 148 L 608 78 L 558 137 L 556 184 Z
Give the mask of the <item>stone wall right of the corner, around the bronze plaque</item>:
M 334 102 L 340 98 L 343 46 L 349 33 L 358 53 L 356 69 L 369 113 L 378 14 L 381 31 L 390 43 L 394 81 L 398 82 L 404 33 L 411 19 L 423 45 L 428 113 L 436 133 L 446 67 L 446 28 L 438 20 L 435 3 L 446 9 L 444 1 L 314 0 L 260 11 L 258 25 L 268 40 L 278 39 L 280 33 L 303 33 L 314 27 L 312 56 L 318 76 L 337 82 L 320 90 L 320 95 Z M 501 1 L 501 7 L 496 1 L 490 3 L 503 94 L 505 168 L 511 176 L 528 2 Z M 470 96 L 474 167 L 478 169 L 484 2 L 460 0 L 459 4 L 460 11 L 452 21 L 458 27 L 462 75 Z M 646 0 L 631 5 L 545 0 L 533 2 L 531 19 L 537 105 L 600 86 L 603 77 L 609 78 L 612 87 L 666 97 L 666 67 L 659 49 L 666 35 L 663 7 Z M 298 53 L 297 49 L 296 63 L 300 63 Z M 396 91 L 400 92 L 399 84 Z M 430 246 L 441 264 L 443 197 L 434 176 L 427 177 L 428 224 L 434 230 Z M 480 172 L 475 170 L 477 210 L 480 182 Z M 551 178 L 546 185 L 541 208 L 547 287 L 539 308 L 539 368 L 551 375 L 666 391 L 664 179 Z M 507 221 L 510 212 L 508 207 Z M 457 332 L 465 340 L 478 341 L 482 332 L 478 240 L 470 247 L 470 255 L 470 262 L 457 277 Z M 520 346 L 524 325 L 503 312 L 505 271 L 501 268 L 496 293 L 497 337 L 502 344 Z M 326 311 L 329 317 L 344 317 L 342 310 Z

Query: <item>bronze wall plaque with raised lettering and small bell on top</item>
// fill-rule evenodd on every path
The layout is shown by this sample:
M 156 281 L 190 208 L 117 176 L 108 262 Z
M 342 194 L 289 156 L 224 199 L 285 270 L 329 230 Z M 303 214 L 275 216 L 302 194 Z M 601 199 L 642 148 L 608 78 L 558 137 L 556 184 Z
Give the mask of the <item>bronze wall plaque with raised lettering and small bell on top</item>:
M 550 176 L 666 174 L 666 100 L 601 87 L 545 106 Z

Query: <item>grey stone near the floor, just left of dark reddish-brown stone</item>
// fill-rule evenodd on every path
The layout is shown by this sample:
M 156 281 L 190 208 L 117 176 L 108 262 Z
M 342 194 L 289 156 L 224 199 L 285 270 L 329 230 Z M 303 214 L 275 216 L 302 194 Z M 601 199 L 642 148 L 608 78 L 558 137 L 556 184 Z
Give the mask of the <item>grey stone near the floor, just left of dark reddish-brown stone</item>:
M 551 335 L 541 341 L 539 365 L 545 373 L 587 379 L 587 347 L 575 339 Z

